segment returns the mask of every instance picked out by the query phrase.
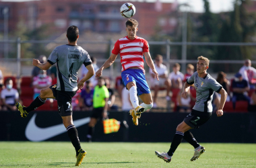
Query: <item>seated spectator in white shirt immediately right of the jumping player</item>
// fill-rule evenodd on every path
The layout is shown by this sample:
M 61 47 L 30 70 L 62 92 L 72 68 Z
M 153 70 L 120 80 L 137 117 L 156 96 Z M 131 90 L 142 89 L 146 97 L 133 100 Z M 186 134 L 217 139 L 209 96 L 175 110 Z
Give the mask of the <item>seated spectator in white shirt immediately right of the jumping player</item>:
M 151 75 L 151 83 L 152 83 L 152 89 L 154 89 L 154 97 L 153 97 L 153 107 L 156 108 L 156 98 L 158 96 L 158 90 L 160 89 L 160 87 L 166 87 L 166 100 L 170 101 L 170 87 L 171 87 L 171 82 L 170 79 L 168 79 L 168 71 L 165 65 L 162 64 L 162 55 L 158 54 L 156 55 L 155 58 L 155 69 L 158 72 L 158 80 L 155 80 L 155 75 L 152 71 L 152 69 L 150 69 L 150 75 Z

